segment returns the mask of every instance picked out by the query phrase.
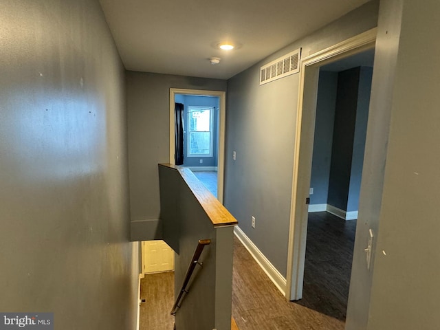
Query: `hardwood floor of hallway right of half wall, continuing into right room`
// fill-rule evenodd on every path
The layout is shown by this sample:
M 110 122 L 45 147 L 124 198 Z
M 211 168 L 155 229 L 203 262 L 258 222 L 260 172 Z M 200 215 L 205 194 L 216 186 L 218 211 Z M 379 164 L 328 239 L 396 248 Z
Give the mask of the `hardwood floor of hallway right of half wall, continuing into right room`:
M 303 300 L 287 302 L 234 240 L 232 316 L 240 330 L 344 329 L 355 221 L 310 214 Z

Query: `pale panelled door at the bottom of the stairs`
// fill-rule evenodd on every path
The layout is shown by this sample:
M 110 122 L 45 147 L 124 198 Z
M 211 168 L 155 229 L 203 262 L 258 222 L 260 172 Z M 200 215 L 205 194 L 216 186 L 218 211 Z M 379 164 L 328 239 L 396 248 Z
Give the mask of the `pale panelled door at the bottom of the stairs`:
M 174 251 L 164 241 L 142 241 L 144 274 L 174 270 Z

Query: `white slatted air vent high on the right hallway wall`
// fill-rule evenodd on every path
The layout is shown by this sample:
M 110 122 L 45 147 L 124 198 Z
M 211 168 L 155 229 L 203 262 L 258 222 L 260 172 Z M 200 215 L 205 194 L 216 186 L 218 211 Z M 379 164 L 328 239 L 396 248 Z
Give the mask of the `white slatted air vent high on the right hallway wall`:
M 300 72 L 301 49 L 294 50 L 260 69 L 260 85 Z

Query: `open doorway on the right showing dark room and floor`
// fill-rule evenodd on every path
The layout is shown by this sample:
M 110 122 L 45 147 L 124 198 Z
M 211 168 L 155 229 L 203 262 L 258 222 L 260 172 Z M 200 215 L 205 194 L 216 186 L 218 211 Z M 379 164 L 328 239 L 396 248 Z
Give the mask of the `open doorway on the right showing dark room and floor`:
M 320 67 L 305 255 L 297 304 L 345 321 L 374 49 Z

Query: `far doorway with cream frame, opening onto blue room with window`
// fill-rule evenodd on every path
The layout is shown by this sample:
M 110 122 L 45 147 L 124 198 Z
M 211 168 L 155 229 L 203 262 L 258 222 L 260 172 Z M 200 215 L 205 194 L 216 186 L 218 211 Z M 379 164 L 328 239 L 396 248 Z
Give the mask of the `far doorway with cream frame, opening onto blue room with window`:
M 184 104 L 184 167 L 223 203 L 225 92 L 170 89 L 170 164 L 175 164 L 175 104 Z

